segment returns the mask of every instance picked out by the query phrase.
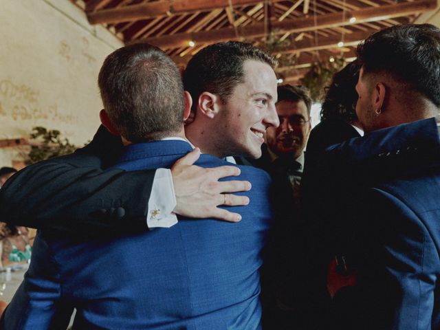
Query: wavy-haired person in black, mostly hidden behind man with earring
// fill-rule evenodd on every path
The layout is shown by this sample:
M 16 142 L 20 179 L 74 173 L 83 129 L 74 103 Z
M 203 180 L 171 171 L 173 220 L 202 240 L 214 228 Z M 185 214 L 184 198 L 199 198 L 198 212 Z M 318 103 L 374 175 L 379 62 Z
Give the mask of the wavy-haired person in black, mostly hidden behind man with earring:
M 360 137 L 362 130 L 360 129 L 360 123 L 358 116 L 355 112 L 356 102 L 358 101 L 358 93 L 355 86 L 358 83 L 360 65 L 358 61 L 353 61 L 346 65 L 340 72 L 337 72 L 331 81 L 329 87 L 327 87 L 327 93 L 325 100 L 322 103 L 321 109 L 321 122 L 311 130 L 309 142 L 307 143 L 307 156 L 306 156 L 306 170 L 303 177 L 303 185 L 301 186 L 302 201 L 305 210 L 311 210 L 325 205 L 325 201 L 317 199 L 316 188 L 319 187 L 319 182 L 315 180 L 320 177 L 316 175 L 309 175 L 314 173 L 315 167 L 321 166 L 322 156 L 325 153 L 325 149 L 332 144 L 349 140 L 351 137 Z M 326 196 L 322 198 L 327 199 Z M 311 212 L 307 212 L 305 217 L 311 216 Z M 321 221 L 325 221 L 322 219 Z M 310 256 L 309 260 L 309 281 L 310 287 L 315 291 L 314 300 L 320 301 L 322 305 L 321 309 L 327 309 L 330 307 L 330 298 L 336 293 L 332 288 L 331 292 L 327 292 L 325 287 L 326 283 L 326 271 L 327 261 L 331 258 L 327 255 L 325 249 L 319 249 L 322 242 L 329 243 L 332 237 L 329 237 L 328 232 L 324 230 L 321 221 L 314 221 L 313 219 L 306 219 L 307 232 L 306 236 L 309 237 L 307 251 Z M 315 249 L 318 249 L 316 252 Z M 349 256 L 337 255 L 332 260 L 332 269 L 338 270 L 341 276 L 333 276 L 340 280 L 340 283 L 347 286 L 347 283 L 355 283 L 355 278 L 349 274 L 347 262 Z M 332 283 L 336 283 L 333 281 Z M 329 296 L 330 294 L 330 296 Z M 332 314 L 332 312 L 330 312 Z

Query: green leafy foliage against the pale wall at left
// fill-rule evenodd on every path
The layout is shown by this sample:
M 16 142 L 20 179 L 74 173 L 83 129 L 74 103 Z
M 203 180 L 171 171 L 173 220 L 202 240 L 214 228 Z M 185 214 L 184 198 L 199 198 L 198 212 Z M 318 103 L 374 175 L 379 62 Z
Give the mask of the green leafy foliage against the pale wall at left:
M 76 150 L 76 146 L 69 142 L 67 137 L 61 137 L 61 132 L 56 129 L 48 130 L 42 126 L 32 128 L 30 134 L 30 152 L 26 164 L 34 164 L 45 159 L 67 155 Z

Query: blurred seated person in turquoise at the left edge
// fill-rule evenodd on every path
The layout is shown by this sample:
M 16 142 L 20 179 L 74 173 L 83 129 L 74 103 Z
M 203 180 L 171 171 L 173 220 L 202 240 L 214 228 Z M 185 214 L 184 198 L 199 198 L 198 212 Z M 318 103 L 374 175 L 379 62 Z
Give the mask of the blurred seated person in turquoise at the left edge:
M 1 263 L 3 267 L 12 263 L 28 263 L 32 248 L 28 240 L 28 228 L 2 223 Z

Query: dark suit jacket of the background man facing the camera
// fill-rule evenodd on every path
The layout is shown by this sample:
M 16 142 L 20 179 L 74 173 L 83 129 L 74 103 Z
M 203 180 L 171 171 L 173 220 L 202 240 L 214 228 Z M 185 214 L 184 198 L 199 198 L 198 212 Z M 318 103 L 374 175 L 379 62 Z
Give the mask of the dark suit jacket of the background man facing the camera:
M 307 329 L 307 314 L 311 310 L 304 305 L 298 278 L 298 269 L 302 267 L 299 259 L 303 255 L 306 239 L 299 200 L 294 198 L 287 172 L 281 173 L 274 167 L 266 144 L 261 146 L 261 153 L 259 159 L 251 159 L 251 162 L 271 175 L 274 206 L 267 259 L 261 272 L 263 328 Z

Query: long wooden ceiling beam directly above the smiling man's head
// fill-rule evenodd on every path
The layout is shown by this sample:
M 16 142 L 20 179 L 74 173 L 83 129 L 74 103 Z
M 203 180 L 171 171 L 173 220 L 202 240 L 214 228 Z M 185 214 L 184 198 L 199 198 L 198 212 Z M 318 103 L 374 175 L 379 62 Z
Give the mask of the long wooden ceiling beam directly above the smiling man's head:
M 378 8 L 369 7 L 360 10 L 347 12 L 346 20 L 342 21 L 342 12 L 331 14 L 322 14 L 316 17 L 304 17 L 294 20 L 285 20 L 282 22 L 272 22 L 272 29 L 278 34 L 286 32 L 306 32 L 325 28 L 336 28 L 338 26 L 352 25 L 349 22 L 351 17 L 356 18 L 356 23 L 367 23 L 373 21 L 382 21 L 394 17 L 401 17 L 417 12 L 426 12 L 437 7 L 437 0 L 420 0 L 414 2 L 398 3 L 396 5 L 383 5 Z M 240 36 L 259 37 L 264 36 L 264 23 L 254 23 L 251 25 L 239 27 Z M 216 43 L 219 41 L 228 41 L 236 39 L 234 28 L 221 28 L 214 31 L 201 31 L 195 33 L 179 33 L 173 36 L 159 36 L 142 39 L 143 42 L 151 43 L 162 49 L 181 47 L 187 45 L 188 41 L 195 43 Z

